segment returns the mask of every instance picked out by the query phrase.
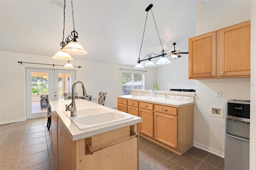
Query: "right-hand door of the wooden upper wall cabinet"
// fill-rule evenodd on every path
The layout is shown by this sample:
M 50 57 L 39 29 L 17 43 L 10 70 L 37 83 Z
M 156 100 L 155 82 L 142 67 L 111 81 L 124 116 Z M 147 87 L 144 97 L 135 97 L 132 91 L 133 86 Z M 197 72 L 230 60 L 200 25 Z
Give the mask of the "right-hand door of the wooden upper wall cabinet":
M 250 77 L 250 21 L 220 30 L 220 76 Z

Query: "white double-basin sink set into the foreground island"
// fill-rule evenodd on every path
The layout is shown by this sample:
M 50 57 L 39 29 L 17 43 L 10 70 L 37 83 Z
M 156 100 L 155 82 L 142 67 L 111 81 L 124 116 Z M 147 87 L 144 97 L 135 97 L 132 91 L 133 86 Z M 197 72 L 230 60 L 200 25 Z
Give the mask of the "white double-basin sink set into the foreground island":
M 119 111 L 114 112 L 113 110 L 101 107 L 77 110 L 76 117 L 70 117 L 70 111 L 64 111 L 64 113 L 80 130 L 109 125 L 133 118 L 132 115 Z

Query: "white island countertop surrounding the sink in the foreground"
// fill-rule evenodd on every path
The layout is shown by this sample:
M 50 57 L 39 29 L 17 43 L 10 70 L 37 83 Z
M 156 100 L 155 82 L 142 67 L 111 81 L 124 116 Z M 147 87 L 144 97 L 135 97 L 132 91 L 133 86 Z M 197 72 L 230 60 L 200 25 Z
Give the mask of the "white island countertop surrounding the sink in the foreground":
M 132 119 L 100 126 L 100 127 L 94 127 L 94 128 L 89 128 L 85 130 L 80 130 L 71 120 L 70 118 L 63 112 L 65 110 L 65 106 L 69 105 L 71 103 L 71 100 L 64 100 L 64 101 L 50 101 L 50 104 L 52 106 L 52 112 L 56 111 L 58 119 L 60 118 L 60 121 L 65 125 L 64 127 L 66 128 L 66 131 L 68 132 L 70 138 L 74 140 L 79 140 L 82 138 L 87 138 L 96 134 L 100 134 L 103 132 L 108 132 L 110 130 L 115 130 L 118 128 L 134 125 L 136 123 L 142 122 L 141 117 L 136 117 L 132 115 Z M 87 107 L 96 107 L 96 106 L 101 106 L 101 107 L 106 107 L 102 105 L 98 105 L 97 103 L 93 103 L 90 101 L 86 101 L 84 99 L 76 99 L 76 107 L 77 109 L 82 109 L 82 108 L 87 108 Z M 107 107 L 108 109 L 112 109 Z M 117 111 L 116 109 L 113 109 L 114 112 L 120 112 Z M 124 113 L 124 112 L 122 112 Z M 125 113 L 128 114 L 128 113 Z

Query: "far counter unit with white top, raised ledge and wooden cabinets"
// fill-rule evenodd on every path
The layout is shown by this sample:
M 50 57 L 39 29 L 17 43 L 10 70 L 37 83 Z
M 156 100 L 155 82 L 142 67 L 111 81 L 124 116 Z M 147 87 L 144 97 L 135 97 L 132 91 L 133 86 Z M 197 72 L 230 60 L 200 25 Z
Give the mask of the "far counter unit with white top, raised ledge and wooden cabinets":
M 195 93 L 157 91 L 155 97 L 146 90 L 132 93 L 118 96 L 117 105 L 120 111 L 142 117 L 140 136 L 178 155 L 193 147 Z

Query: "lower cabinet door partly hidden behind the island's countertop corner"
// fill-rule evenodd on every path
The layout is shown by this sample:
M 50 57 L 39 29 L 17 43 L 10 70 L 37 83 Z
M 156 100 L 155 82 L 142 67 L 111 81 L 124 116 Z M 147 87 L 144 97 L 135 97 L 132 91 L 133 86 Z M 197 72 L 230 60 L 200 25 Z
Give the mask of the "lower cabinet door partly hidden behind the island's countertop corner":
M 139 116 L 142 117 L 142 122 L 139 124 L 139 130 L 150 137 L 154 137 L 154 115 L 153 111 L 140 109 Z

